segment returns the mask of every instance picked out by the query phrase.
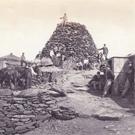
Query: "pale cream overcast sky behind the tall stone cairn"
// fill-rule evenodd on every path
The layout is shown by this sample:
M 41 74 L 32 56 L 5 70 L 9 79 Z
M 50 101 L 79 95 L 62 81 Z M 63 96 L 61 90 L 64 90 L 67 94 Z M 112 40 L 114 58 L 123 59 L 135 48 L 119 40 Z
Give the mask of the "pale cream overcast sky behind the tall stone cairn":
M 86 25 L 109 56 L 135 52 L 135 0 L 0 0 L 0 56 L 10 52 L 34 59 L 64 12 Z

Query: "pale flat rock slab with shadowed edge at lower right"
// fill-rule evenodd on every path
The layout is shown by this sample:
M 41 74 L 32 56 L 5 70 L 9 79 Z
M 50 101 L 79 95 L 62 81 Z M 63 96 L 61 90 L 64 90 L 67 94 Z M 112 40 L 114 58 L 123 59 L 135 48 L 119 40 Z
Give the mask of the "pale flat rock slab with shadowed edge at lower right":
M 91 116 L 103 121 L 118 121 L 122 117 L 124 117 L 123 113 L 107 108 L 102 108 L 98 112 L 92 114 Z

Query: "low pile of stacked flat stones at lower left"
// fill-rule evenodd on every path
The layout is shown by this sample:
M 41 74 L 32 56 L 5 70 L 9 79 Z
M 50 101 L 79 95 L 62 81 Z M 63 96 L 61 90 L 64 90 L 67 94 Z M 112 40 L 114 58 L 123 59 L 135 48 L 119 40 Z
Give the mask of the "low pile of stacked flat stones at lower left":
M 22 134 L 39 127 L 43 121 L 52 117 L 62 119 L 61 116 L 65 116 L 65 112 L 62 113 L 61 110 L 61 107 L 57 106 L 57 101 L 47 93 L 31 97 L 0 97 L 0 134 Z M 66 115 L 65 120 L 77 116 L 70 109 L 67 109 L 66 114 L 69 115 Z

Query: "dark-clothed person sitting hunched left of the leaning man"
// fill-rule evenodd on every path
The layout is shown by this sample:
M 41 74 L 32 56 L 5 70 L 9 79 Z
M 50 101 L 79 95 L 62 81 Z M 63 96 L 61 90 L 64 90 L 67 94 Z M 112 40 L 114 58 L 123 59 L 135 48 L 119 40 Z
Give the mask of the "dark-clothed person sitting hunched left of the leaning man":
M 101 83 L 100 83 L 100 72 L 98 71 L 96 75 L 88 83 L 88 86 L 93 90 L 101 90 Z

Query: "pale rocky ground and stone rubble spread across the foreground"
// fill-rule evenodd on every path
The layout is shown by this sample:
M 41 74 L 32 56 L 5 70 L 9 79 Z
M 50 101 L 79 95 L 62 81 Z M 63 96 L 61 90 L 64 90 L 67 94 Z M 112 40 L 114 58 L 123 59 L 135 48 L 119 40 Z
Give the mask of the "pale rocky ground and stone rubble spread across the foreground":
M 0 118 L 3 118 L 3 121 L 0 122 L 1 134 L 134 135 L 135 110 L 126 98 L 101 98 L 101 92 L 88 91 L 87 83 L 95 73 L 96 71 L 72 71 L 63 73 L 57 78 L 57 84 L 53 84 L 53 86 L 41 85 L 38 89 L 33 88 L 34 90 L 27 90 L 20 93 L 14 92 L 16 96 L 31 95 L 27 99 L 16 97 L 16 99 L 11 100 L 12 102 L 7 102 L 10 97 L 5 99 L 1 97 L 1 108 L 8 106 L 1 109 Z M 52 87 L 58 91 L 63 91 L 67 96 L 60 96 L 59 94 L 61 92 L 52 91 Z M 1 95 L 3 93 L 5 94 L 3 90 L 0 92 Z M 38 93 L 42 94 L 40 95 Z M 40 101 L 40 99 L 43 100 Z M 23 100 L 23 106 L 22 101 L 21 105 L 19 105 L 20 100 Z M 63 112 L 60 107 L 65 109 L 64 115 L 56 115 L 58 114 L 57 110 Z M 66 110 L 67 108 L 69 110 Z M 48 111 L 56 113 L 54 115 L 48 113 Z M 67 116 L 66 112 L 68 112 L 68 116 L 70 114 L 72 116 L 74 115 L 74 117 L 70 117 L 70 120 L 60 119 L 60 116 Z M 52 117 L 52 115 L 58 117 Z M 26 127 L 30 127 L 30 129 Z M 26 129 L 27 132 L 25 132 Z

